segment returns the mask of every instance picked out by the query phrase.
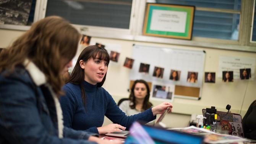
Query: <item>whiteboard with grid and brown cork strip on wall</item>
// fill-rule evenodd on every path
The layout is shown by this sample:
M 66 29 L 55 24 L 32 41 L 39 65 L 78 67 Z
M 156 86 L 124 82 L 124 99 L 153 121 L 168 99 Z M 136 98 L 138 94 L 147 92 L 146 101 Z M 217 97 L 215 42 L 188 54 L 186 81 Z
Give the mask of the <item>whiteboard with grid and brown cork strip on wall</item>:
M 198 50 L 172 49 L 133 45 L 134 64 L 130 80 L 144 79 L 154 85 L 166 86 L 174 97 L 200 99 L 203 86 L 205 52 Z M 149 64 L 148 73 L 139 72 L 141 63 Z M 162 78 L 153 76 L 155 66 L 164 68 Z M 170 80 L 171 70 L 180 71 L 178 81 Z M 190 72 L 197 73 L 197 82 L 188 82 Z M 151 89 L 151 95 L 152 95 Z

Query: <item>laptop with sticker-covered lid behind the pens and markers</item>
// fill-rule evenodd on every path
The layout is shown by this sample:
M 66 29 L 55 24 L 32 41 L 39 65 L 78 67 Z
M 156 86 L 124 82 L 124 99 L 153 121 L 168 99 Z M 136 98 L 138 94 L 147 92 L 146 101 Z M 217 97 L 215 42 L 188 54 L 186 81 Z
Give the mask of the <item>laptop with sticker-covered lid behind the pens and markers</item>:
M 205 116 L 206 109 L 203 109 Z M 217 125 L 220 125 L 223 130 L 227 130 L 228 134 L 244 138 L 242 116 L 237 113 L 228 113 L 217 111 Z

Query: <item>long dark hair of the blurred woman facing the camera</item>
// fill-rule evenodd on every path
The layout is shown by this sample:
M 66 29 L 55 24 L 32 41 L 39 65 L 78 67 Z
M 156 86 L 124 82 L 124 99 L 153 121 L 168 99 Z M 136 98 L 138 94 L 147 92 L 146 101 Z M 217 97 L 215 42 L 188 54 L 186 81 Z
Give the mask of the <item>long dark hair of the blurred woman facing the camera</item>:
M 133 86 L 131 87 L 131 94 L 129 96 L 129 100 L 132 102 L 132 104 L 130 105 L 130 107 L 131 107 L 131 109 L 134 109 L 136 107 L 136 97 L 134 95 L 134 88 L 137 83 L 143 83 L 147 89 L 147 95 L 144 98 L 143 106 L 142 106 L 142 109 L 144 111 L 144 110 L 147 110 L 148 108 L 151 108 L 152 104 L 149 102 L 149 95 L 150 95 L 149 85 L 143 79 L 138 79 L 138 80 L 134 81 Z

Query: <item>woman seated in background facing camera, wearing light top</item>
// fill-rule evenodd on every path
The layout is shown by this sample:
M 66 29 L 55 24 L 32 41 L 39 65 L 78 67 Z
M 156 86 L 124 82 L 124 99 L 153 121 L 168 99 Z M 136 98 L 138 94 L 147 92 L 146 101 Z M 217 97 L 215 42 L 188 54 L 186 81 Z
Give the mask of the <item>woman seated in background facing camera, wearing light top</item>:
M 139 79 L 134 81 L 131 87 L 131 94 L 129 100 L 123 101 L 119 108 L 127 115 L 135 115 L 152 107 L 149 102 L 149 85 L 146 81 Z M 148 123 L 149 125 L 154 125 L 154 121 Z

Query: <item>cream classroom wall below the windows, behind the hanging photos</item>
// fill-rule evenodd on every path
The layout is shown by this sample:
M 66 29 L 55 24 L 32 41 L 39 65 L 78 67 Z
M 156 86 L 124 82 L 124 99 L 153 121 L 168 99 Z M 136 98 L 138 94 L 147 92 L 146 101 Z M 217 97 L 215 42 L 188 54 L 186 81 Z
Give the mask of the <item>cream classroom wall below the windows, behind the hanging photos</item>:
M 0 29 L 0 47 L 7 47 L 24 31 L 13 31 Z M 205 68 L 204 71 L 215 71 L 217 74 L 219 66 L 219 57 L 239 56 L 256 58 L 256 53 L 241 52 L 232 50 L 209 49 L 203 47 L 188 47 L 181 45 L 156 44 L 150 42 L 135 42 L 128 40 L 103 39 L 92 37 L 91 42 L 101 44 L 117 44 L 122 47 L 118 63 L 109 64 L 107 78 L 103 87 L 113 96 L 116 102 L 119 99 L 128 97 L 129 92 L 129 72 L 130 70 L 123 67 L 126 57 L 132 56 L 133 44 L 149 45 L 156 47 L 169 47 L 175 49 L 205 50 Z M 94 44 L 94 43 L 91 43 Z M 146 54 L 141 53 L 141 55 Z M 231 112 L 245 115 L 249 105 L 256 99 L 256 78 L 253 81 L 234 80 L 233 83 L 222 83 L 222 79 L 216 78 L 216 83 L 203 83 L 201 100 L 191 100 L 184 98 L 174 98 L 173 114 L 168 114 L 164 122 L 169 127 L 187 126 L 191 114 L 201 114 L 202 108 L 215 106 L 217 110 L 226 111 L 227 104 L 231 105 Z M 160 104 L 162 101 L 151 100 L 153 105 Z M 104 125 L 111 123 L 106 120 Z

